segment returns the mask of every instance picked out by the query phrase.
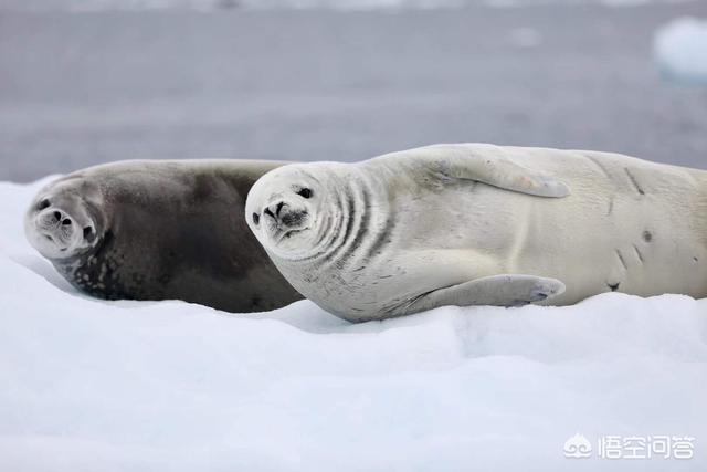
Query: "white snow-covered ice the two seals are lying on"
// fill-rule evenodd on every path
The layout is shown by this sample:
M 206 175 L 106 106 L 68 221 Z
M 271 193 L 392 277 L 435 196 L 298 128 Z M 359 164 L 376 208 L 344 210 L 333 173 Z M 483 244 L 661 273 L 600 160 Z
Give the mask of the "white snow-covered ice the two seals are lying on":
M 605 294 L 349 325 L 75 293 L 0 183 L 3 471 L 706 470 L 707 304 Z M 580 433 L 696 438 L 692 460 L 566 459 Z

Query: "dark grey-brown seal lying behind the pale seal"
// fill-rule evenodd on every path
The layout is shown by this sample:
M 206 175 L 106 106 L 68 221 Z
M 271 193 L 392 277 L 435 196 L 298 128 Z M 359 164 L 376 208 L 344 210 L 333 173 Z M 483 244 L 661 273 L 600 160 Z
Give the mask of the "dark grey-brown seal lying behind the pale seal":
M 93 296 L 273 310 L 302 295 L 247 230 L 243 208 L 253 182 L 282 164 L 135 160 L 87 168 L 38 193 L 25 233 Z

